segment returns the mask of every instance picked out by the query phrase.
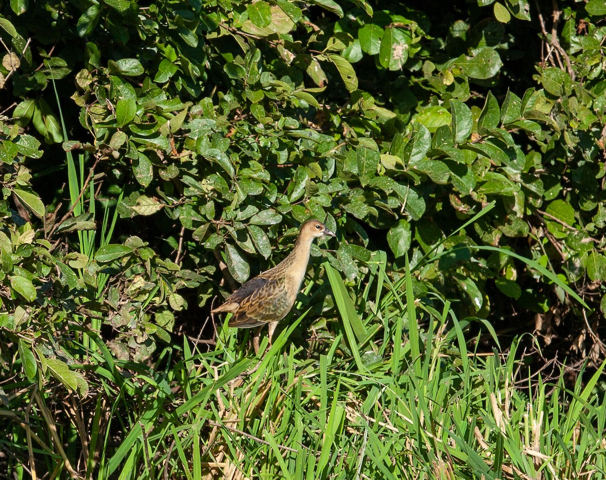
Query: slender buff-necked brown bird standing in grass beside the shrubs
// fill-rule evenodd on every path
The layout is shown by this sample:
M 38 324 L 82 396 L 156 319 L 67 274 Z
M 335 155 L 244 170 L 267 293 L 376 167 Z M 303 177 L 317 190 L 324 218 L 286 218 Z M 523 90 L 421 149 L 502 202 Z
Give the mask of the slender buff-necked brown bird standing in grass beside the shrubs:
M 230 327 L 253 328 L 268 325 L 271 336 L 295 304 L 295 299 L 307 271 L 311 242 L 322 236 L 335 237 L 322 222 L 311 219 L 301 225 L 292 252 L 278 265 L 245 282 L 211 313 L 230 312 Z M 253 339 L 258 352 L 258 336 Z

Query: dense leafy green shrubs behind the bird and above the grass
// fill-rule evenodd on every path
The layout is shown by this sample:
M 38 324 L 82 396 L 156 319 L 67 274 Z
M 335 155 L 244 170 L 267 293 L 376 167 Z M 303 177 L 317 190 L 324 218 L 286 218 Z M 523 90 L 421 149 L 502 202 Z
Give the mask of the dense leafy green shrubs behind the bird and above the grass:
M 504 345 L 534 332 L 543 362 L 606 353 L 604 1 L 0 8 L 11 405 L 38 395 L 28 385 L 85 396 L 103 375 L 87 365 L 145 365 L 202 325 L 212 342 L 213 299 L 279 262 L 312 216 L 338 233 L 312 255 L 361 315 L 373 265 L 398 284 L 408 258 L 416 298 L 488 319 Z M 588 308 L 476 245 L 537 262 Z M 320 263 L 302 302 L 331 339 Z

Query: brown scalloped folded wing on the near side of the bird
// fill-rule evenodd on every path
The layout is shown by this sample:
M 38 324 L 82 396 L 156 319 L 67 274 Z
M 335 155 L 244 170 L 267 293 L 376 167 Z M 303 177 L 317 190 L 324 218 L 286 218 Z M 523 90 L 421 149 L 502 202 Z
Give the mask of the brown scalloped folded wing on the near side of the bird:
M 238 311 L 229 320 L 230 327 L 252 328 L 278 321 L 290 310 L 284 277 L 267 282 L 240 302 Z

